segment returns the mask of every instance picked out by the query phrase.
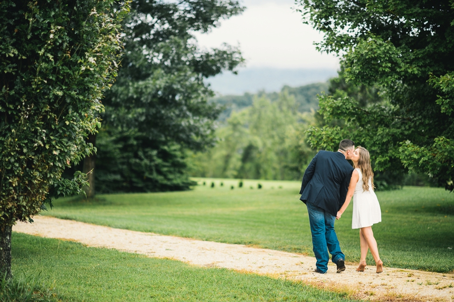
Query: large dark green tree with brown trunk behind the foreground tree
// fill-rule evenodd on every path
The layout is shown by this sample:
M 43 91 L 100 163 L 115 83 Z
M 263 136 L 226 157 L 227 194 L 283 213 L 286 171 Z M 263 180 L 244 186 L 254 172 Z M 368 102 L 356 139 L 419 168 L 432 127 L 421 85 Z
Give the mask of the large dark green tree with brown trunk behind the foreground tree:
M 125 52 L 117 82 L 103 104 L 96 138 L 97 191 L 183 190 L 186 150 L 213 143 L 219 108 L 204 79 L 243 62 L 239 49 L 201 49 L 194 32 L 239 14 L 234 0 L 134 0 L 123 22 Z M 94 167 L 86 165 L 86 170 Z M 93 188 L 93 185 L 91 186 Z

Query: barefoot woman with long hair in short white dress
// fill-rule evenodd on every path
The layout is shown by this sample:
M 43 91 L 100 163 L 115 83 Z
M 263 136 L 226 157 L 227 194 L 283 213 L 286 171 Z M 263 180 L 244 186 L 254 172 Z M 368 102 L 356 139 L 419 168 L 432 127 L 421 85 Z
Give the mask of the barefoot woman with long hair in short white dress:
M 342 208 L 337 212 L 336 219 L 341 218 L 353 196 L 352 228 L 360 229 L 361 242 L 361 261 L 356 270 L 364 272 L 367 251 L 370 250 L 377 264 L 377 273 L 381 273 L 383 262 L 378 255 L 377 241 L 375 241 L 372 232 L 372 225 L 381 222 L 381 210 L 374 192 L 374 173 L 370 166 L 369 151 L 359 146 L 353 153 L 352 161 L 355 170 L 352 173 L 347 198 Z

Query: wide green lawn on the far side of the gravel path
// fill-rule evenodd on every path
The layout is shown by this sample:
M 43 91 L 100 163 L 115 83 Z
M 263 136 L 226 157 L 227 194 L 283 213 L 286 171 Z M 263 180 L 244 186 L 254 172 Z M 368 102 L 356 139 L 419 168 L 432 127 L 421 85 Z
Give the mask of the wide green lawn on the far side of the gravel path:
M 245 180 L 240 189 L 238 180 L 198 180 L 206 185 L 187 192 L 99 195 L 90 202 L 59 199 L 44 214 L 313 255 L 306 206 L 299 201 L 300 182 Z M 260 190 L 258 183 L 263 186 Z M 385 266 L 454 270 L 454 194 L 406 187 L 377 196 L 382 222 L 373 230 Z M 351 229 L 351 222 L 352 205 L 335 228 L 346 260 L 358 262 L 359 234 Z M 372 258 L 368 262 L 372 265 Z

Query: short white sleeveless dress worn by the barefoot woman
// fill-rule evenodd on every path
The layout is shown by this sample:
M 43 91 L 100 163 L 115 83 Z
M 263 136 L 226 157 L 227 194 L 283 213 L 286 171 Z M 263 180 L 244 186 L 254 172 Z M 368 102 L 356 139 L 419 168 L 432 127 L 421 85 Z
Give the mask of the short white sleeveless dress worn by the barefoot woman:
M 361 228 L 381 222 L 381 209 L 370 179 L 369 191 L 364 191 L 363 174 L 359 168 L 355 170 L 358 171 L 359 179 L 353 194 L 352 228 Z

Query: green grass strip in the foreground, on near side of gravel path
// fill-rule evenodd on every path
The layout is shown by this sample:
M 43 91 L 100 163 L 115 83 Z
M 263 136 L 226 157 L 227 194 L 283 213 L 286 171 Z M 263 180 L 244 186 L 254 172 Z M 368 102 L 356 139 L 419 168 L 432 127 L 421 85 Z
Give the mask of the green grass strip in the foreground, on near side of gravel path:
M 347 293 L 255 274 L 21 233 L 12 240 L 13 273 L 39 275 L 60 301 L 350 301 Z

